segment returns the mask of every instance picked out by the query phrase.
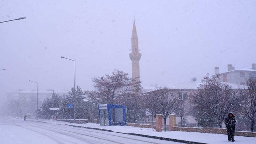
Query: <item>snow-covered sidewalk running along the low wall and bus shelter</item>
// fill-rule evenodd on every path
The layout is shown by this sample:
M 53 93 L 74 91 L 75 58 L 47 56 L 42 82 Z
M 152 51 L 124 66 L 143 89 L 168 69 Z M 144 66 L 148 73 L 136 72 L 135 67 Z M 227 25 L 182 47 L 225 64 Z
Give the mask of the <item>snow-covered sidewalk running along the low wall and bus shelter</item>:
M 42 120 L 42 119 L 40 119 L 38 121 L 46 122 L 49 124 L 61 124 L 61 125 L 68 124 L 69 125 L 69 122 L 63 122 L 63 121 Z M 228 141 L 228 136 L 222 135 L 222 134 L 198 133 L 198 132 L 177 132 L 177 131 L 156 132 L 155 129 L 151 129 L 151 128 L 138 128 L 138 127 L 131 127 L 131 126 L 104 127 L 104 126 L 100 126 L 100 124 L 95 124 L 95 123 L 87 123 L 87 124 L 71 123 L 70 125 L 107 129 L 107 130 L 111 130 L 114 132 L 137 133 L 137 134 L 149 135 L 149 136 L 166 137 L 166 138 L 171 138 L 171 139 L 187 140 L 187 141 L 194 141 L 194 142 L 200 142 L 200 143 L 209 143 L 209 144 L 231 143 L 230 141 Z M 236 144 L 255 144 L 256 143 L 256 137 L 235 136 L 234 140 L 235 140 Z

